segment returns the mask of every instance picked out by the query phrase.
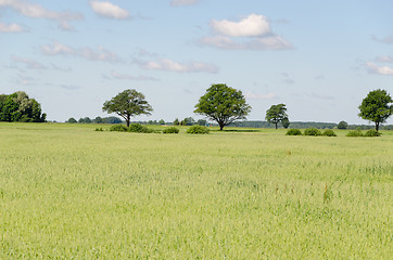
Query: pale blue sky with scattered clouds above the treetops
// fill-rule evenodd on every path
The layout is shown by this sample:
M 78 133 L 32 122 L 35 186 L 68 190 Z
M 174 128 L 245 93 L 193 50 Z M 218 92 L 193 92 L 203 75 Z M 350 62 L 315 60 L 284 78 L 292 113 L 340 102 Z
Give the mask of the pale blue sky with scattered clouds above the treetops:
M 203 116 L 213 83 L 241 90 L 248 120 L 369 123 L 369 91 L 393 95 L 391 0 L 0 0 L 0 93 L 25 91 L 49 120 L 113 116 L 136 89 L 151 116 Z M 388 123 L 393 123 L 390 118 Z

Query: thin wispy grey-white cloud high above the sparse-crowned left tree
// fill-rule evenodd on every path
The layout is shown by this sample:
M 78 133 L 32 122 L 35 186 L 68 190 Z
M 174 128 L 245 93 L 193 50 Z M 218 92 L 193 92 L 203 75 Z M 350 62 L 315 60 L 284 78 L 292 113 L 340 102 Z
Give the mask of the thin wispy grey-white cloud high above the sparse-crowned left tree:
M 99 47 L 97 50 L 88 47 L 76 49 L 54 42 L 52 46 L 41 46 L 40 49 L 46 55 L 72 55 L 94 62 L 123 62 L 116 53 L 111 52 L 103 47 Z

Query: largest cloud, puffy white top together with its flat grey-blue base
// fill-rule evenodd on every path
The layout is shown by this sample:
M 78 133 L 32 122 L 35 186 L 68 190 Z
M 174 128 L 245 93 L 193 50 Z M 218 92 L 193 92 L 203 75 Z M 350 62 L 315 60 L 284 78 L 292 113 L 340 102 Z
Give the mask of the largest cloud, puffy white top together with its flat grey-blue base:
M 290 42 L 276 36 L 264 15 L 250 14 L 240 22 L 227 20 L 211 22 L 215 35 L 204 37 L 200 43 L 225 50 L 286 50 Z

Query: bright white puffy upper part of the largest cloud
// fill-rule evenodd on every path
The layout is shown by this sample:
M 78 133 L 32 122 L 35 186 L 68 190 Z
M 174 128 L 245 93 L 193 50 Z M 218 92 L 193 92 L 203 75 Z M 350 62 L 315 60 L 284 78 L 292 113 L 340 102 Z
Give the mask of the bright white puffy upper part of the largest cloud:
M 240 22 L 213 20 L 211 26 L 216 32 L 230 37 L 256 37 L 270 34 L 267 18 L 258 14 L 250 14 Z

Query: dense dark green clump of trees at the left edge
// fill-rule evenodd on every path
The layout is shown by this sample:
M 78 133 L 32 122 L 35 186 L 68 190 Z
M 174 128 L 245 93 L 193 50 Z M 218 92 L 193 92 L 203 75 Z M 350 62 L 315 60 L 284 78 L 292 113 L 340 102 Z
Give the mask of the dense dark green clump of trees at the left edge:
M 41 105 L 25 92 L 0 95 L 0 121 L 43 122 L 46 118 L 47 114 L 41 114 Z

